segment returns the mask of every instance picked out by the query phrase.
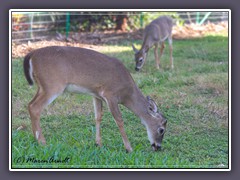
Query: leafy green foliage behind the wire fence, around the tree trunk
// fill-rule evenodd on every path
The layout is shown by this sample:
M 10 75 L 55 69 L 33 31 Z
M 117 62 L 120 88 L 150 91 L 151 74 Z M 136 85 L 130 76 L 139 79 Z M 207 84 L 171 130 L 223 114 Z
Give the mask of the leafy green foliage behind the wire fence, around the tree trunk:
M 80 16 L 71 16 L 71 31 L 93 32 L 95 30 L 115 29 L 118 15 L 126 15 L 128 30 L 144 28 L 161 15 L 171 16 L 178 25 L 184 23 L 184 20 L 176 12 L 84 12 Z M 65 19 L 65 16 L 58 18 Z M 60 24 L 57 29 L 60 32 L 64 31 L 65 25 Z

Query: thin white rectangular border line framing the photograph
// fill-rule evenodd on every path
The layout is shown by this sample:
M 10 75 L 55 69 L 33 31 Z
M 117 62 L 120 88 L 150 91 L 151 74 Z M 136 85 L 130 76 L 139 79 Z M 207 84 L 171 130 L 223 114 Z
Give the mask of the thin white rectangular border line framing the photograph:
M 45 11 L 45 12 L 74 12 L 74 11 L 112 11 L 112 12 L 128 12 L 128 11 L 136 11 L 136 12 L 154 12 L 154 11 L 163 11 L 163 12 L 179 12 L 179 11 L 193 11 L 193 12 L 202 12 L 202 11 L 208 11 L 208 12 L 215 12 L 215 11 L 226 11 L 229 15 L 229 21 L 228 21 L 228 39 L 229 39 L 229 53 L 228 53 L 228 64 L 229 64 L 229 72 L 228 72 L 228 82 L 229 82 L 229 169 L 12 169 L 11 162 L 12 162 L 12 156 L 11 156 L 11 150 L 12 150 L 12 144 L 11 144 L 11 138 L 12 138 L 12 94 L 11 94 L 11 80 L 12 80 L 12 12 L 27 12 L 27 11 Z M 9 171 L 231 171 L 231 10 L 230 9 L 10 9 L 9 10 Z

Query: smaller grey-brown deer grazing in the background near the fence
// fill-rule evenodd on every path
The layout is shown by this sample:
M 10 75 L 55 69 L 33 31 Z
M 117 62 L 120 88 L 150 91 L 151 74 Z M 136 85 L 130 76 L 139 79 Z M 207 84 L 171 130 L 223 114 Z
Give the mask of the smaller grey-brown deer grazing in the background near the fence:
M 146 60 L 148 50 L 154 45 L 154 55 L 156 60 L 156 67 L 159 69 L 160 58 L 164 50 L 164 41 L 168 39 L 170 49 L 170 63 L 173 69 L 173 57 L 172 57 L 172 18 L 169 16 L 160 16 L 153 20 L 146 26 L 143 34 L 143 44 L 140 50 L 137 50 L 132 44 L 133 51 L 135 52 L 135 70 L 139 71 Z M 158 44 L 161 44 L 160 57 L 158 57 Z

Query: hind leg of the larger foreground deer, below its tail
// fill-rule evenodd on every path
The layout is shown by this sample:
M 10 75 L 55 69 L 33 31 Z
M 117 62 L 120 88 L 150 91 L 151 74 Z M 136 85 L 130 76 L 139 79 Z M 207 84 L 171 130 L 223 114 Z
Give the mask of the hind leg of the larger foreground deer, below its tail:
M 60 95 L 60 93 L 50 94 L 42 91 L 39 88 L 37 94 L 28 105 L 28 111 L 32 122 L 32 131 L 39 144 L 46 144 L 46 140 L 40 127 L 41 112 L 44 107 L 50 104 L 58 95 Z

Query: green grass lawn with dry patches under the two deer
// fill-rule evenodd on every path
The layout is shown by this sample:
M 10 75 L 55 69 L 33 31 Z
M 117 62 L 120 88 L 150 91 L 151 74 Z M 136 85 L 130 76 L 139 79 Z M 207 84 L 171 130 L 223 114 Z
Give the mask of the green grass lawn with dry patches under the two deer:
M 140 47 L 140 41 L 136 46 Z M 168 45 L 155 68 L 153 49 L 141 72 L 135 72 L 130 43 L 106 44 L 101 52 L 119 58 L 145 95 L 168 119 L 161 151 L 153 152 L 140 119 L 121 106 L 133 147 L 126 153 L 120 132 L 104 105 L 103 147 L 95 147 L 92 99 L 63 94 L 41 115 L 47 140 L 33 138 L 27 104 L 36 92 L 24 78 L 22 59 L 12 62 L 13 168 L 228 168 L 228 37 L 207 36 L 174 41 L 175 69 Z M 26 126 L 24 130 L 17 130 Z M 55 161 L 52 161 L 52 160 Z

